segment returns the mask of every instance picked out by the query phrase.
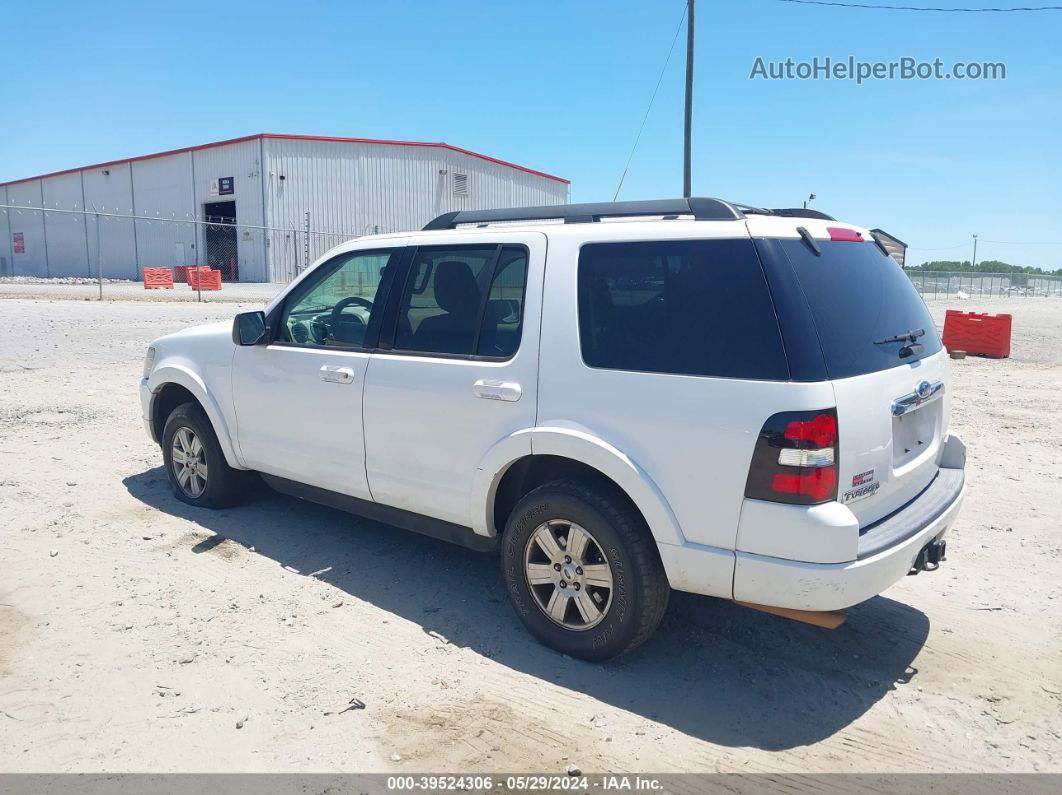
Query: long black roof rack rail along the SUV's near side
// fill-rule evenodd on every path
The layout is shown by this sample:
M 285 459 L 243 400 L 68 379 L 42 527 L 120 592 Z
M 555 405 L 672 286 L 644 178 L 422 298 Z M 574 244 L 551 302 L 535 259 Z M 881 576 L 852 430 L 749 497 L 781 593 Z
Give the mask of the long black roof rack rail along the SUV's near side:
M 721 198 L 656 198 L 647 202 L 597 202 L 545 207 L 512 207 L 502 210 L 456 210 L 429 221 L 425 231 L 455 229 L 459 224 L 493 224 L 504 221 L 547 221 L 590 224 L 604 218 L 637 215 L 692 215 L 697 221 L 740 221 L 744 214 Z

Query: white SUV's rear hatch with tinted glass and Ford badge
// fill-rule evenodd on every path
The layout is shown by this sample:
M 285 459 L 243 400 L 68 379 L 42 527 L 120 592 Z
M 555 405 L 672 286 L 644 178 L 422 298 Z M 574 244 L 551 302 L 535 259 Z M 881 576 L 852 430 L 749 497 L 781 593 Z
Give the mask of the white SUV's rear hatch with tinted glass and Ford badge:
M 837 499 L 866 526 L 937 474 L 947 431 L 946 355 L 910 279 L 870 232 L 802 223 L 810 240 L 757 245 L 792 377 L 833 381 Z

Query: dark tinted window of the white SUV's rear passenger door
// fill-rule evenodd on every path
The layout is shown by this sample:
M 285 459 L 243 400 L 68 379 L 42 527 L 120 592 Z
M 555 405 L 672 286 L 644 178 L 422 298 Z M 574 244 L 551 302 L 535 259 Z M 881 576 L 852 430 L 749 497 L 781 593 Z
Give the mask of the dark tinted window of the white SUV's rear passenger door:
M 396 350 L 511 356 L 519 343 L 527 254 L 518 246 L 418 248 L 398 309 Z

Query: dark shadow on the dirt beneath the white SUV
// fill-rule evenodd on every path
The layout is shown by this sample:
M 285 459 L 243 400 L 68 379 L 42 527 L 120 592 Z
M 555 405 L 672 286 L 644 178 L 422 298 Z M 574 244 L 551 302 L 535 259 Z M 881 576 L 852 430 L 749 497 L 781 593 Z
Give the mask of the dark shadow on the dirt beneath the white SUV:
M 649 642 L 603 666 L 588 663 L 525 632 L 493 554 L 264 486 L 241 507 L 209 511 L 178 501 L 161 467 L 124 484 L 144 504 L 216 534 L 191 553 L 225 539 L 254 547 L 288 571 L 312 572 L 500 664 L 719 745 L 781 750 L 834 734 L 911 679 L 929 630 L 924 613 L 883 597 L 851 608 L 847 623 L 827 630 L 675 592 Z

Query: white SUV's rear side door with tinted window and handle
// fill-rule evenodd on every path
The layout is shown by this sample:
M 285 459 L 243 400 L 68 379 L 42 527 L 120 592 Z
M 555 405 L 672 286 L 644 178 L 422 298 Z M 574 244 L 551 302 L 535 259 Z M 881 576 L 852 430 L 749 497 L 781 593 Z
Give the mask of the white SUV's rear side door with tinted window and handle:
M 535 422 L 546 238 L 417 242 L 365 375 L 365 468 L 377 502 L 467 526 L 483 455 Z

